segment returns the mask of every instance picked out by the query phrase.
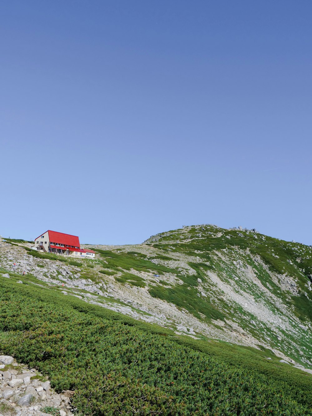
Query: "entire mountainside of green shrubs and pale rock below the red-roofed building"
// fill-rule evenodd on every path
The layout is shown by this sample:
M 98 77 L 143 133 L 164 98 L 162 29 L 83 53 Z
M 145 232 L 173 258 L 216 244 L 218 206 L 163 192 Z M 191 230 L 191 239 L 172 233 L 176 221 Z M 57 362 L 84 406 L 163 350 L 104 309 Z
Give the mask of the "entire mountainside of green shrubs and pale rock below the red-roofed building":
M 312 415 L 311 247 L 214 225 L 88 247 L 0 248 L 0 353 L 73 390 L 77 411 Z

